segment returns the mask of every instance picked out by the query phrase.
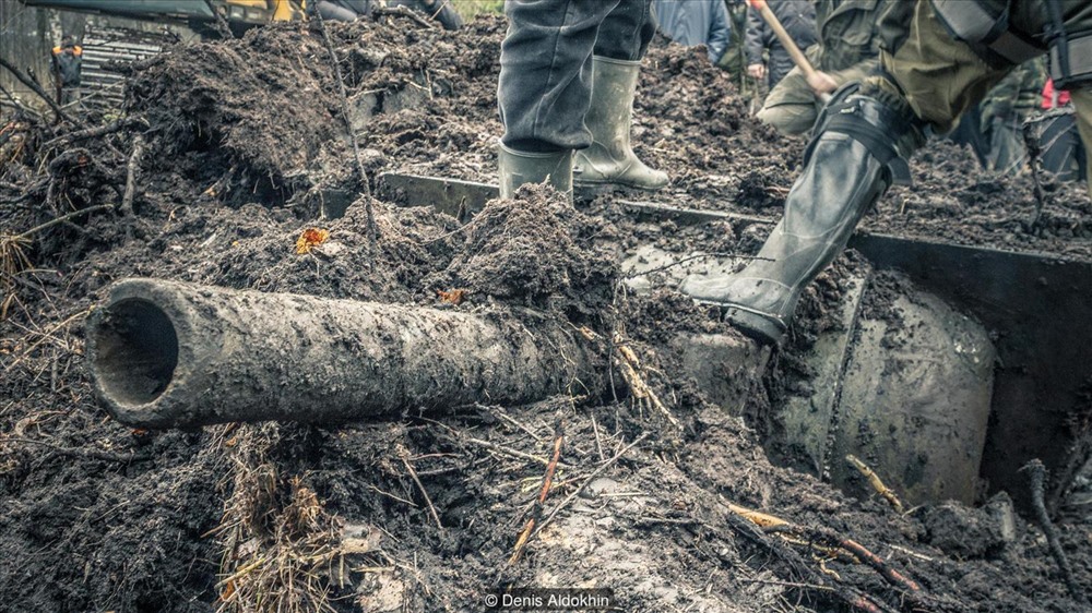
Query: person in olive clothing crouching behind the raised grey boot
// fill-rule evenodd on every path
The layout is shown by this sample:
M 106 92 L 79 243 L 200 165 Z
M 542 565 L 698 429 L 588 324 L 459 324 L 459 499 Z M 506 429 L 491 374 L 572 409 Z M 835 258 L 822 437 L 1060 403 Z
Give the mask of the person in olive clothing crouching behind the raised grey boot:
M 850 81 L 859 81 L 879 67 L 880 16 L 893 1 L 897 0 L 818 0 L 817 40 L 805 55 L 823 82 L 814 87 L 804 71 L 794 67 L 770 91 L 758 119 L 782 134 L 804 134 L 811 130 L 822 108 L 823 94 Z

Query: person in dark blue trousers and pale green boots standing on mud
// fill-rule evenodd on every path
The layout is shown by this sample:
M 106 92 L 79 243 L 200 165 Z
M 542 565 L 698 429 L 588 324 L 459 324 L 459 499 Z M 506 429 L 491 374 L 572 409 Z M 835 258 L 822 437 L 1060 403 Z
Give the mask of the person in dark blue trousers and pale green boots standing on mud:
M 498 101 L 500 194 L 549 180 L 656 190 L 667 175 L 630 144 L 641 59 L 655 34 L 652 0 L 509 0 Z

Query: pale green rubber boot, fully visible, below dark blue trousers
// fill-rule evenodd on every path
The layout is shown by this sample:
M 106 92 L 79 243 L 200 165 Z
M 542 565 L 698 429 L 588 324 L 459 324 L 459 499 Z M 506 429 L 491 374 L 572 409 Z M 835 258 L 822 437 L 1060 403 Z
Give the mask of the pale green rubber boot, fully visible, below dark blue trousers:
M 627 187 L 658 190 L 667 173 L 637 159 L 630 146 L 633 94 L 641 62 L 592 58 L 592 106 L 584 122 L 592 146 L 577 152 L 573 183 L 578 188 Z

